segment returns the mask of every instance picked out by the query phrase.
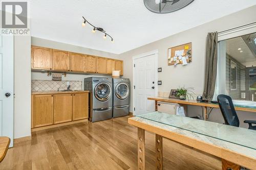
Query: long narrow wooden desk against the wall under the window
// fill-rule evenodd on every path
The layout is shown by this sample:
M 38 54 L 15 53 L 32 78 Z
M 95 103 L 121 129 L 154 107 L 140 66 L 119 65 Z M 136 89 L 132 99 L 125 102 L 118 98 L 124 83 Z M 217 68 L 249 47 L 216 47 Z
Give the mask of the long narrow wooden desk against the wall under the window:
M 186 110 L 187 105 L 193 105 L 193 106 L 201 106 L 204 108 L 204 120 L 208 119 L 208 114 L 207 114 L 207 108 L 220 108 L 218 104 L 211 104 L 211 103 L 200 103 L 196 102 L 193 100 L 179 100 L 179 99 L 170 99 L 170 98 L 162 98 L 162 97 L 152 97 L 152 98 L 147 98 L 148 100 L 153 100 L 155 101 L 155 109 L 157 111 L 157 102 L 168 102 L 168 103 L 177 103 L 180 104 L 181 106 L 184 107 Z M 240 111 L 247 111 L 247 112 L 256 112 L 256 109 L 253 108 L 245 108 L 245 107 L 234 107 L 236 110 Z

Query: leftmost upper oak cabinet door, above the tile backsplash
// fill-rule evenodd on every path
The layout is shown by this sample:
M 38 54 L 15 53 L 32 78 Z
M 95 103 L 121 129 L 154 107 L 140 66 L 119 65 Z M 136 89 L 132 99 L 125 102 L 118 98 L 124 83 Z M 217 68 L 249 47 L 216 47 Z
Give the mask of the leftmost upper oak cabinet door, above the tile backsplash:
M 52 69 L 52 49 L 31 46 L 31 68 Z

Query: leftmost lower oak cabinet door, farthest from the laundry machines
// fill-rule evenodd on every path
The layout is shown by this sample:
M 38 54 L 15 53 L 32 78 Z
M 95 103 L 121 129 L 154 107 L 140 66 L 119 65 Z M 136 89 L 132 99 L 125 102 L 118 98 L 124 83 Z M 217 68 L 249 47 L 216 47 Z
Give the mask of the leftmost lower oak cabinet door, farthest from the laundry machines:
M 33 95 L 32 128 L 53 124 L 53 95 Z

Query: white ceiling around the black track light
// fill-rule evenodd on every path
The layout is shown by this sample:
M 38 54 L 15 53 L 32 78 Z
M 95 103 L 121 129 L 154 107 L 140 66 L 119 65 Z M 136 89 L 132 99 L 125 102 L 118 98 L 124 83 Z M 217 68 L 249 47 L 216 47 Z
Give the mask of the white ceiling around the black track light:
M 195 0 L 168 14 L 148 11 L 142 0 L 31 0 L 31 36 L 120 54 L 256 5 L 255 0 Z M 115 40 L 104 40 L 82 16 Z

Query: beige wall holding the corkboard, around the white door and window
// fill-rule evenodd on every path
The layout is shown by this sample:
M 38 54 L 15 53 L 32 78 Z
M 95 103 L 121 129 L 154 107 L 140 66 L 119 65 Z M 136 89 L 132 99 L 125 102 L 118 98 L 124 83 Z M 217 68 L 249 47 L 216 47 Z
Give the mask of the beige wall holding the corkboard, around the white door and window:
M 167 38 L 152 42 L 150 44 L 138 47 L 129 52 L 120 54 L 120 59 L 124 61 L 124 78 L 130 78 L 133 83 L 133 60 L 132 57 L 158 50 L 158 67 L 162 67 L 162 72 L 158 74 L 158 80 L 162 81 L 162 85 L 158 86 L 158 91 L 169 92 L 170 89 L 175 89 L 179 86 L 194 87 L 195 92 L 201 94 L 204 86 L 205 72 L 205 53 L 206 53 L 206 35 L 208 32 L 223 31 L 245 25 L 256 21 L 256 6 L 245 10 L 230 14 L 228 16 L 216 19 L 205 23 L 201 26 L 189 29 L 187 31 L 169 36 Z M 184 24 L 184 27 L 186 25 Z M 157 32 L 156 32 L 157 34 Z M 193 62 L 186 66 L 181 64 L 177 66 L 168 66 L 167 64 L 167 49 L 172 46 L 177 46 L 187 42 L 192 42 Z M 133 90 L 133 89 L 131 89 Z M 132 95 L 132 92 L 131 92 Z M 132 97 L 131 104 L 132 104 Z M 189 114 L 201 114 L 201 108 L 189 107 Z M 132 106 L 130 107 L 132 111 Z M 254 117 L 255 113 L 239 113 L 242 114 L 243 120 L 246 117 Z M 211 113 L 211 120 L 223 122 L 219 110 Z M 242 122 L 242 121 L 241 121 Z M 244 125 L 243 125 L 244 126 Z

